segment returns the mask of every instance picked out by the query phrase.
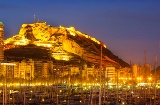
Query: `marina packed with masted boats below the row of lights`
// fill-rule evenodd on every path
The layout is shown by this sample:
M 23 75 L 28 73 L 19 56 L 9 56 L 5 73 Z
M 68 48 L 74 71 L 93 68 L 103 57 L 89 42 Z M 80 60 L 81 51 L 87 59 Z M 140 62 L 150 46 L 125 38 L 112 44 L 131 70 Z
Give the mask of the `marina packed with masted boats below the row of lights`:
M 108 87 L 108 88 L 104 88 Z M 156 87 L 156 88 L 155 88 Z M 101 87 L 101 105 L 159 105 L 159 84 Z M 99 85 L 1 86 L 1 105 L 98 105 Z

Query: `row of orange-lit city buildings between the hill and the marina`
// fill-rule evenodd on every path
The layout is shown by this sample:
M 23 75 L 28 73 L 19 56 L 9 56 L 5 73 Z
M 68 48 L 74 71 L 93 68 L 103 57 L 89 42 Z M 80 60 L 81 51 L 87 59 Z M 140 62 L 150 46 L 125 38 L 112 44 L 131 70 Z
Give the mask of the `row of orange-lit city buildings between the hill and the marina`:
M 7 78 L 19 78 L 33 80 L 37 78 L 64 78 L 82 77 L 87 81 L 99 81 L 99 77 L 105 83 L 126 84 L 133 80 L 137 83 L 147 82 L 151 77 L 151 67 L 149 64 L 144 66 L 133 65 L 132 68 L 116 68 L 113 66 L 105 67 L 99 71 L 94 65 L 83 64 L 81 66 L 63 65 L 52 61 L 24 59 L 20 62 L 1 62 L 0 75 Z M 72 78 L 70 78 L 73 80 Z M 66 79 L 66 81 L 68 81 Z M 90 82 L 91 82 L 90 81 Z

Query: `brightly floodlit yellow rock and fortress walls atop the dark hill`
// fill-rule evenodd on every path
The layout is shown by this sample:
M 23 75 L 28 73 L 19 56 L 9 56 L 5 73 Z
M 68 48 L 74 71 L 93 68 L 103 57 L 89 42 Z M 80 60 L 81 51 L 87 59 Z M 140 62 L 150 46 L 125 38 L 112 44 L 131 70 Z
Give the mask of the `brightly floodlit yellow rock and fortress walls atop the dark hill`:
M 28 29 L 32 30 L 31 35 L 28 34 Z M 50 53 L 52 53 L 51 56 L 56 60 L 70 60 L 72 56 L 68 53 L 65 53 L 66 51 L 82 56 L 83 48 L 79 46 L 78 43 L 68 40 L 67 37 L 63 37 L 66 36 L 66 33 L 70 33 L 70 35 L 72 36 L 83 36 L 89 40 L 94 41 L 97 44 L 101 44 L 101 42 L 98 41 L 96 38 L 91 37 L 87 34 L 83 34 L 80 31 L 77 31 L 74 27 L 65 28 L 60 26 L 59 28 L 55 28 L 47 25 L 46 22 L 36 22 L 33 24 L 22 24 L 21 29 L 17 35 L 8 38 L 7 40 L 4 40 L 4 44 L 6 45 L 4 47 L 4 50 L 14 48 L 16 47 L 16 45 L 34 44 L 36 46 L 47 47 Z M 105 44 L 103 44 L 102 46 L 106 48 Z M 105 59 L 111 62 L 115 62 L 107 56 L 105 56 Z

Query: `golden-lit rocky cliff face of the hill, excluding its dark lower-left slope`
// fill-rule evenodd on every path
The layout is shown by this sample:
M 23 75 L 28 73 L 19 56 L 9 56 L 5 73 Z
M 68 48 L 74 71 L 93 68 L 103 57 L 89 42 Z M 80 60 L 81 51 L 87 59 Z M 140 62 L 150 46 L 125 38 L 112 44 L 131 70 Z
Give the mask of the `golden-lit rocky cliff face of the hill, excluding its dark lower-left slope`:
M 129 66 L 109 51 L 105 44 L 75 30 L 74 27 L 52 27 L 45 22 L 23 24 L 19 34 L 8 38 L 4 43 L 6 49 L 34 44 L 46 48 L 56 60 L 69 61 L 76 55 L 93 64 L 100 63 L 102 46 L 103 65 Z

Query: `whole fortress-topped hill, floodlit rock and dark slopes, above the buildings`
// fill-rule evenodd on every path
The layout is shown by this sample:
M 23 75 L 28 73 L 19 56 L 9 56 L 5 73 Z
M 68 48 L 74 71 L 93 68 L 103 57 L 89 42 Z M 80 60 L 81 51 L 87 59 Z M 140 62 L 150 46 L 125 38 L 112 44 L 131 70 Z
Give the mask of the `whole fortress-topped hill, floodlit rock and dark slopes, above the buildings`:
M 22 24 L 17 35 L 5 43 L 5 57 L 8 60 L 20 58 L 52 59 L 60 61 L 85 61 L 100 65 L 129 67 L 114 55 L 104 43 L 74 27 L 52 27 L 46 22 Z

